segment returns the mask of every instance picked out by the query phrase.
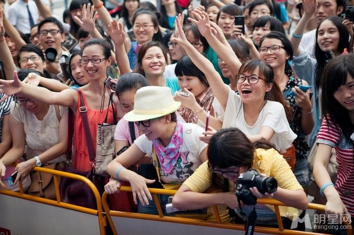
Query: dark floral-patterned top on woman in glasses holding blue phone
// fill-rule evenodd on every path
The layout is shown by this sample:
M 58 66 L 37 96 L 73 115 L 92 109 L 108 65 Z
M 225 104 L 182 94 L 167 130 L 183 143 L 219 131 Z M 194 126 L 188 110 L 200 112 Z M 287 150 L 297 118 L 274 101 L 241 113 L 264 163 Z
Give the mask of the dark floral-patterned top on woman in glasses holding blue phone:
M 300 86 L 302 84 L 301 79 L 295 78 L 292 71 L 286 71 L 286 75 L 289 78 L 289 81 L 286 83 L 285 89 L 283 90 L 283 97 L 285 101 L 290 105 L 291 112 L 294 115 L 296 103 L 295 96 L 289 96 L 291 88 L 294 86 Z M 295 147 L 295 156 L 296 159 L 307 157 L 307 151 L 310 149 L 306 143 L 305 135 L 303 134 L 301 128 L 301 119 L 293 120 L 289 122 L 291 130 L 297 135 L 297 138 L 294 140 L 293 145 Z

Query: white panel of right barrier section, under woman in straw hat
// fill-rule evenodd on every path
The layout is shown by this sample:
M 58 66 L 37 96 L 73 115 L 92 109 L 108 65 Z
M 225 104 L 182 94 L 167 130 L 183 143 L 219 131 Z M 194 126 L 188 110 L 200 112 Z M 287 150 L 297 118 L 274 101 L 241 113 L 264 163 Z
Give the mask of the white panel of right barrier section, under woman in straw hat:
M 137 219 L 111 216 L 117 233 L 119 235 L 181 235 L 181 234 L 203 234 L 203 235 L 235 235 L 245 234 L 245 231 L 199 226 L 192 224 L 172 223 L 156 220 Z M 254 232 L 255 235 L 265 235 L 267 233 Z

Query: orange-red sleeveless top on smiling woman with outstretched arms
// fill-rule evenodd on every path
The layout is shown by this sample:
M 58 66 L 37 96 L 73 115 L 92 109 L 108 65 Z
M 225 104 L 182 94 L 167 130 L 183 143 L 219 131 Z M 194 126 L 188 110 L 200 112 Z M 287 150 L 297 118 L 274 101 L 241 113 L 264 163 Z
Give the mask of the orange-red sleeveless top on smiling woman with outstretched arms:
M 78 88 L 81 89 L 81 88 Z M 82 92 L 82 90 L 81 90 Z M 108 109 L 108 119 L 107 123 L 113 124 L 113 110 L 110 106 L 105 108 L 101 113 L 100 110 L 95 110 L 87 106 L 87 101 L 84 93 L 82 92 L 83 101 L 87 107 L 87 120 L 89 121 L 89 129 L 92 139 L 92 145 L 94 148 L 94 155 L 96 155 L 96 135 L 97 135 L 97 125 L 102 124 L 105 121 L 107 109 Z M 80 97 L 77 93 L 77 109 L 74 116 L 74 149 L 75 155 L 73 160 L 73 167 L 80 171 L 89 171 L 92 168 L 89 158 L 89 151 L 87 150 L 87 143 L 85 137 L 85 130 L 83 126 L 83 121 L 81 118 L 80 109 Z

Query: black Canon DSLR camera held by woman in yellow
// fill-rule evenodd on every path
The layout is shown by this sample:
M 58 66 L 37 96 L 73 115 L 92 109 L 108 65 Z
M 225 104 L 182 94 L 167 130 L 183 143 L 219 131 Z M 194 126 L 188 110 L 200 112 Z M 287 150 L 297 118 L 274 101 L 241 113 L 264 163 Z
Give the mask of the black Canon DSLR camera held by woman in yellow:
M 271 177 L 262 177 L 255 169 L 249 169 L 240 175 L 237 181 L 236 196 L 246 205 L 255 205 L 257 197 L 255 197 L 249 188 L 256 187 L 259 193 L 274 193 L 277 191 L 278 182 Z

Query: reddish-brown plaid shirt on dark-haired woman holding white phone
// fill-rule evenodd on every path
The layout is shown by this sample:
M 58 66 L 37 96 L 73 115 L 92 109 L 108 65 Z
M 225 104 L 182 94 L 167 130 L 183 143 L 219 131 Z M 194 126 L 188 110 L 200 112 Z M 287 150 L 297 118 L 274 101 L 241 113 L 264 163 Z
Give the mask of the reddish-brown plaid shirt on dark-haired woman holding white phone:
M 196 98 L 197 103 L 205 110 L 210 110 L 210 115 L 217 117 L 217 113 L 212 107 L 212 101 L 214 100 L 214 94 L 210 87 L 200 93 Z M 178 112 L 187 123 L 197 123 L 198 116 L 194 114 L 192 109 L 181 107 Z

